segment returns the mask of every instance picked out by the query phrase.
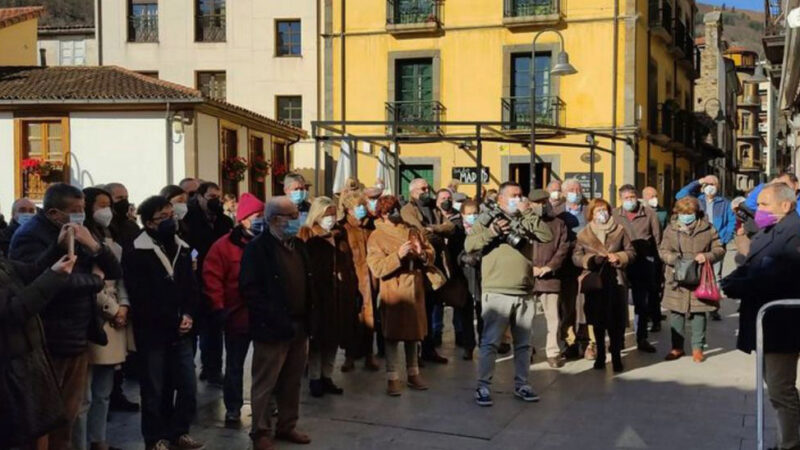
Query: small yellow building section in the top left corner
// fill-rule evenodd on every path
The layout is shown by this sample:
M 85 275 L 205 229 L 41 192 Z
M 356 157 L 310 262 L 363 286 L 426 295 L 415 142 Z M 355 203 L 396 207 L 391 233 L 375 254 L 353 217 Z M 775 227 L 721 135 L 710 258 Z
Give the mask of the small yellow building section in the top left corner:
M 0 8 L 0 66 L 35 66 L 41 6 Z

